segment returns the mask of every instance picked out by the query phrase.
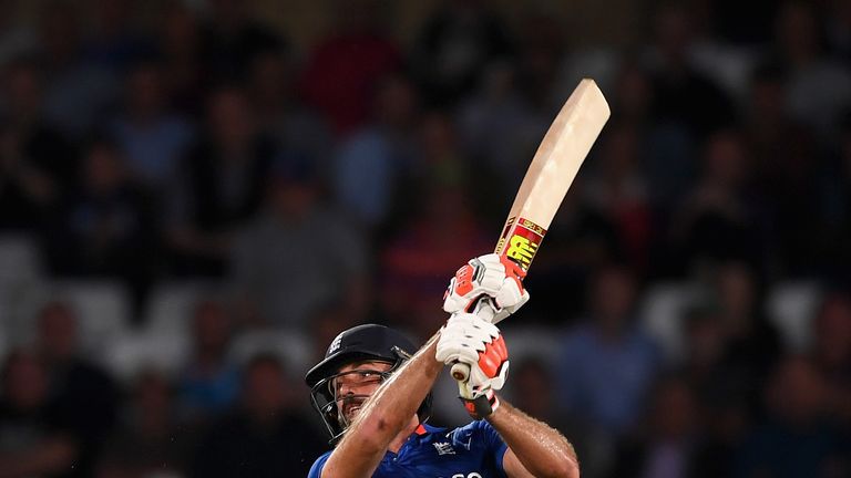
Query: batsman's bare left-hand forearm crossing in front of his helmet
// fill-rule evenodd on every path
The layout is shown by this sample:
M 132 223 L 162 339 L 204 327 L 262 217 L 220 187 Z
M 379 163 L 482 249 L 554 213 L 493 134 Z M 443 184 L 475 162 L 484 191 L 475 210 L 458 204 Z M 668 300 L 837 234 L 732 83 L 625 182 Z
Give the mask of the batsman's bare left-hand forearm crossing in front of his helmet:
M 435 351 L 437 335 L 376 391 L 329 457 L 324 477 L 362 477 L 375 471 L 443 370 Z

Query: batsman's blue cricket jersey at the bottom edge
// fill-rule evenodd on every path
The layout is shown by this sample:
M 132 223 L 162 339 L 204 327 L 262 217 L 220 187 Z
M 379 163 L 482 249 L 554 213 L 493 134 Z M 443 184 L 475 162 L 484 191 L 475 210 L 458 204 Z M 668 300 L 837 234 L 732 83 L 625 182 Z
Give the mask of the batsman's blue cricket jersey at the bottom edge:
M 449 430 L 420 425 L 399 453 L 388 451 L 372 478 L 505 478 L 507 446 L 485 420 Z M 331 451 L 320 456 L 308 478 L 319 478 Z

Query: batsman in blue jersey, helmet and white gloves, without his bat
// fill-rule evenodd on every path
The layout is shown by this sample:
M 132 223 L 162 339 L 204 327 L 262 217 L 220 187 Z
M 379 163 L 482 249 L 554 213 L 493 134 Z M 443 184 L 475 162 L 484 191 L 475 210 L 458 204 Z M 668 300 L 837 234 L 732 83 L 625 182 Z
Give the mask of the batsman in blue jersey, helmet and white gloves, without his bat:
M 450 282 L 450 319 L 413 355 L 408 339 L 382 325 L 340 333 L 305 377 L 336 444 L 309 477 L 578 477 L 567 439 L 495 394 L 507 377 L 507 351 L 500 330 L 478 313 L 492 304 L 498 322 L 523 305 L 523 273 L 496 254 L 471 260 Z M 455 363 L 470 367 L 461 395 L 474 420 L 433 427 L 432 385 Z

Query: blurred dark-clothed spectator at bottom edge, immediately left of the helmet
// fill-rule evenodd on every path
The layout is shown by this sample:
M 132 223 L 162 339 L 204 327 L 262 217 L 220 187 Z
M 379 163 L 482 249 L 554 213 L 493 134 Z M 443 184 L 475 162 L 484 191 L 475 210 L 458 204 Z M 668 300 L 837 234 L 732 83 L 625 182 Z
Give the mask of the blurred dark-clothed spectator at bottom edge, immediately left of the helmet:
M 277 358 L 258 355 L 243 372 L 240 402 L 202 439 L 191 477 L 307 476 L 310 457 L 326 448 L 293 405 Z

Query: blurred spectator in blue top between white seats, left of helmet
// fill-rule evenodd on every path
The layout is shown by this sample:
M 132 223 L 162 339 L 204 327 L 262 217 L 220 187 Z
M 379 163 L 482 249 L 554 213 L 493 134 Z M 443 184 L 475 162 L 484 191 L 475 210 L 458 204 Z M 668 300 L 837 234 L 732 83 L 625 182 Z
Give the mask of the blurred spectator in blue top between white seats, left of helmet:
M 201 301 L 192 318 L 192 355 L 177 384 L 181 412 L 191 422 L 209 419 L 233 405 L 239 372 L 227 352 L 234 331 L 222 302 Z

